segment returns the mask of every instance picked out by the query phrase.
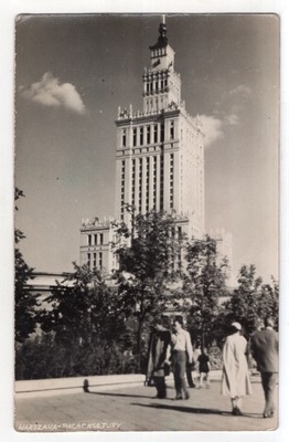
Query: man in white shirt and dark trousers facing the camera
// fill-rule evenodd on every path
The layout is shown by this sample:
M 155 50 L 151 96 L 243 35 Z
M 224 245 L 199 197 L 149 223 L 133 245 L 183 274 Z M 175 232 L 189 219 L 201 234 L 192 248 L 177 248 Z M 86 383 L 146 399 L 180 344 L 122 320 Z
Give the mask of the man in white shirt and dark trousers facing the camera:
M 175 316 L 172 334 L 172 368 L 174 376 L 175 399 L 189 399 L 190 394 L 185 382 L 186 361 L 193 361 L 193 348 L 189 332 L 183 329 L 182 316 Z

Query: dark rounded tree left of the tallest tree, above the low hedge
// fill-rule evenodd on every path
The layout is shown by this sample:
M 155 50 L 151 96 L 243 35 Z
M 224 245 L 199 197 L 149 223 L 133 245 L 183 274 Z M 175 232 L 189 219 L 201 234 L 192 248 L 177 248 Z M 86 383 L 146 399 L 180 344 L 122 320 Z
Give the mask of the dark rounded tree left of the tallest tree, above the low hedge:
M 55 332 L 55 341 L 87 346 L 117 340 L 124 320 L 117 309 L 116 292 L 108 287 L 104 274 L 87 264 L 74 264 L 74 272 L 56 282 L 39 320 L 44 332 Z

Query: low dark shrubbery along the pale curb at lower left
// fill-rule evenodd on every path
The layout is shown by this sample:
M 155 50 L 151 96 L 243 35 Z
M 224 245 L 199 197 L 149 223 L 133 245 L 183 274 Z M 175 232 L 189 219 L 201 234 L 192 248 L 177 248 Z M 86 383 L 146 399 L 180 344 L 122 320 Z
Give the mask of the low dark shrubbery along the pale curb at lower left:
M 15 348 L 17 380 L 131 372 L 137 372 L 136 357 L 116 343 L 67 346 L 56 343 L 54 334 L 43 334 Z

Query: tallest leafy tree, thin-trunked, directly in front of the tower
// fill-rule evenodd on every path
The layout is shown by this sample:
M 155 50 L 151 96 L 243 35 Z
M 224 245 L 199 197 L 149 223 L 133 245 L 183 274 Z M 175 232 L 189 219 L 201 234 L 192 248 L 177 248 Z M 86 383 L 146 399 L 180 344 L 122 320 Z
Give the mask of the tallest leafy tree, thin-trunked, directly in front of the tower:
M 136 352 L 141 366 L 142 330 L 147 322 L 163 313 L 171 301 L 171 284 L 180 275 L 178 257 L 182 235 L 174 214 L 157 212 L 135 215 L 131 223 L 116 223 L 113 244 L 119 267 L 115 271 L 119 308 L 127 318 L 138 322 Z M 144 327 L 146 328 L 146 327 Z

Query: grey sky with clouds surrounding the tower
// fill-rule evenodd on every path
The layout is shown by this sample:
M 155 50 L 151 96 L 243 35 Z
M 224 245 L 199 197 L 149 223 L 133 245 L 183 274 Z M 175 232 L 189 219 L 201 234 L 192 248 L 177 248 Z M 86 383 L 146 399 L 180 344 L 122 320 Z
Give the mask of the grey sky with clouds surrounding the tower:
M 205 133 L 205 227 L 233 235 L 233 271 L 278 278 L 279 20 L 167 14 L 186 110 Z M 160 15 L 20 17 L 15 225 L 39 272 L 72 271 L 83 218 L 114 214 L 118 106 L 142 109 Z

